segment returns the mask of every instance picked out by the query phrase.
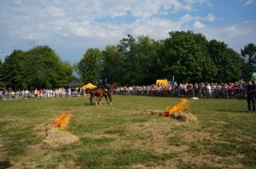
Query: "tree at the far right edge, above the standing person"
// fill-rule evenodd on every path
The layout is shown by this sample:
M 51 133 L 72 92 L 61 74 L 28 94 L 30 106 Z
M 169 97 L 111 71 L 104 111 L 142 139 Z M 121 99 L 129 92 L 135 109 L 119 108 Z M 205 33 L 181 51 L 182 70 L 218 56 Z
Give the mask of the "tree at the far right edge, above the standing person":
M 247 81 L 251 79 L 252 73 L 255 71 L 256 56 L 254 54 L 256 54 L 256 45 L 254 43 L 248 43 L 241 49 L 243 58 L 242 77 Z

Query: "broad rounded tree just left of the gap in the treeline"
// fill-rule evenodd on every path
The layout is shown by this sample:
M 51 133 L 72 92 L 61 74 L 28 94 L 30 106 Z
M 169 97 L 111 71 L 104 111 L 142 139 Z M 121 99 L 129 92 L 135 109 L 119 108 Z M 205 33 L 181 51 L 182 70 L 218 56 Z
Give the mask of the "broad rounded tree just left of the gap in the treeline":
M 73 68 L 48 46 L 38 46 L 26 54 L 26 82 L 32 87 L 64 87 L 73 79 Z

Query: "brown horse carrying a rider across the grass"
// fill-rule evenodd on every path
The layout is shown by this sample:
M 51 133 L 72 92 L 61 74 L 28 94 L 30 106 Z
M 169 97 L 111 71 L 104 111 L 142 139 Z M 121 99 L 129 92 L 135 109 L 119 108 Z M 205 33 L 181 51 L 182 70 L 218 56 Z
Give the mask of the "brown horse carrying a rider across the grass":
M 112 97 L 111 97 L 111 93 L 109 91 L 106 91 L 103 87 L 96 87 L 95 89 L 93 89 L 90 92 L 90 105 L 92 103 L 92 99 L 96 96 L 96 105 L 100 104 L 102 105 L 102 97 L 104 96 L 104 98 L 107 100 L 107 103 L 112 104 Z M 108 102 L 109 99 L 109 102 Z

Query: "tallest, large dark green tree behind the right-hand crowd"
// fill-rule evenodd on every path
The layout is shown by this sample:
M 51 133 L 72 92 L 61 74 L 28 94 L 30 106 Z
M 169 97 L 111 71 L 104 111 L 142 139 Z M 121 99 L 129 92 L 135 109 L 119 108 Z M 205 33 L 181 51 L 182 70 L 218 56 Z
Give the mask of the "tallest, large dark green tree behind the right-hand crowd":
M 164 47 L 164 72 L 166 77 L 176 77 L 178 82 L 199 82 L 206 64 L 205 52 L 195 41 L 191 31 L 170 32 Z

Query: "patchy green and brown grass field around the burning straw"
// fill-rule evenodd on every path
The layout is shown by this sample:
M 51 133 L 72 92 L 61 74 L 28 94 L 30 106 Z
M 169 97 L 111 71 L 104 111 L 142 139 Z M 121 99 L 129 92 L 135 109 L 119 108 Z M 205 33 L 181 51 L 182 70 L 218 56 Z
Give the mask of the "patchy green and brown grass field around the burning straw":
M 113 96 L 102 106 L 85 98 L 0 102 L 0 161 L 11 168 L 256 168 L 256 113 L 245 99 L 189 99 L 198 118 L 181 122 L 162 110 L 178 98 Z M 36 127 L 71 112 L 75 144 L 44 147 Z

